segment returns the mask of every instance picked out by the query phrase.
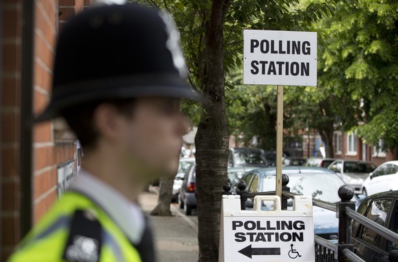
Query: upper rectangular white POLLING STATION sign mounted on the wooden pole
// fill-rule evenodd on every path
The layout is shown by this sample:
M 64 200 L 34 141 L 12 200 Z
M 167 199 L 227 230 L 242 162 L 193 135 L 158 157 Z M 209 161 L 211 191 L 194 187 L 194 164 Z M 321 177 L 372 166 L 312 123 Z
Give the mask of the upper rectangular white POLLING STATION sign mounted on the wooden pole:
M 317 33 L 243 31 L 243 83 L 317 86 Z

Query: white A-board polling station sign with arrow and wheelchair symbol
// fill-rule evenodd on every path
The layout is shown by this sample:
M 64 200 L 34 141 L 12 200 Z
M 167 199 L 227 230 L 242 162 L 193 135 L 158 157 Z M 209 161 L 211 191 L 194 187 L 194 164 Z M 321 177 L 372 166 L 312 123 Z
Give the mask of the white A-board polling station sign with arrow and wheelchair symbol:
M 273 210 L 261 210 L 263 201 Z M 313 200 L 295 196 L 293 210 L 280 209 L 279 196 L 256 196 L 241 210 L 240 196 L 223 196 L 220 262 L 315 261 Z

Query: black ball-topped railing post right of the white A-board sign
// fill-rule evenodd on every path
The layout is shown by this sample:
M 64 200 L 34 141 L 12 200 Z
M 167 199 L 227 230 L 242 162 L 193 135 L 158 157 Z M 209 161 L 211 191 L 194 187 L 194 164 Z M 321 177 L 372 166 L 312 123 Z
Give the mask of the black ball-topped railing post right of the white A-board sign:
M 355 203 L 351 202 L 354 197 L 354 189 L 349 185 L 342 185 L 337 194 L 339 194 L 341 201 L 336 203 L 336 218 L 339 218 L 339 243 L 336 244 L 334 259 L 340 262 L 345 261 L 343 249 L 354 250 L 354 245 L 351 244 L 352 219 L 345 213 L 347 207 L 355 210 Z

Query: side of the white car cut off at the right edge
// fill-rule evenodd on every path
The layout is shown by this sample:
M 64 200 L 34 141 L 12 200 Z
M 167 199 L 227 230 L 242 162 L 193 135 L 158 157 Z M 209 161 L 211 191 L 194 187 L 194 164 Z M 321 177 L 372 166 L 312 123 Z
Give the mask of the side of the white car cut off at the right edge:
M 377 192 L 384 192 L 396 189 L 396 183 L 398 179 L 398 166 L 388 163 L 383 167 L 383 172 L 377 172 L 371 177 L 369 183 L 369 194 L 375 194 Z

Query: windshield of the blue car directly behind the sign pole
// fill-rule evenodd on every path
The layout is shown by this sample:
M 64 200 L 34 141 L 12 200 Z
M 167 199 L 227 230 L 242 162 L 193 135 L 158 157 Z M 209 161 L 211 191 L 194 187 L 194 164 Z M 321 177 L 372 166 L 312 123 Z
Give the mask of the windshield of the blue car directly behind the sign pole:
M 263 176 L 263 192 L 275 190 L 275 176 Z M 336 174 L 328 173 L 309 173 L 309 174 L 289 174 L 290 192 L 304 196 L 312 196 L 327 202 L 339 202 L 337 194 L 339 187 L 344 182 Z

